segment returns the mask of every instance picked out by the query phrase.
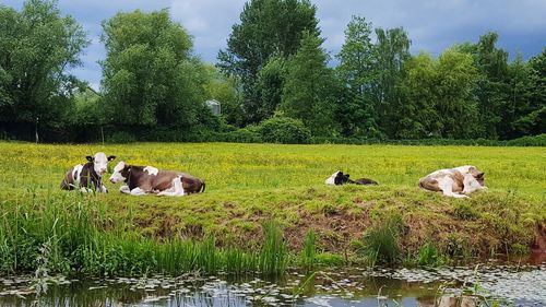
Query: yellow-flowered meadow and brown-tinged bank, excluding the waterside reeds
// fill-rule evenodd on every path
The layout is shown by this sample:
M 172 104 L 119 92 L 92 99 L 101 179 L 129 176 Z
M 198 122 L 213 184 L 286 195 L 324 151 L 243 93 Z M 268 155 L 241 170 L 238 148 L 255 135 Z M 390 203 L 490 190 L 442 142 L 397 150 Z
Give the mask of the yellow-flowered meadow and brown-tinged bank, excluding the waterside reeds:
M 190 173 L 206 181 L 206 191 L 130 197 L 110 182 L 108 194 L 60 191 L 66 172 L 97 151 L 117 156 L 111 167 L 124 161 Z M 546 222 L 545 147 L 2 142 L 0 152 L 3 233 L 5 216 L 20 205 L 76 198 L 100 203 L 106 232 L 153 239 L 212 235 L 218 246 L 253 249 L 262 240 L 261 225 L 273 220 L 292 250 L 300 250 L 313 229 L 318 251 L 339 255 L 358 255 L 366 247 L 363 234 L 392 216 L 402 223 L 404 257 L 430 243 L 449 256 L 525 252 Z M 468 164 L 486 173 L 489 190 L 460 200 L 417 188 L 435 169 Z M 325 186 L 337 169 L 380 186 Z

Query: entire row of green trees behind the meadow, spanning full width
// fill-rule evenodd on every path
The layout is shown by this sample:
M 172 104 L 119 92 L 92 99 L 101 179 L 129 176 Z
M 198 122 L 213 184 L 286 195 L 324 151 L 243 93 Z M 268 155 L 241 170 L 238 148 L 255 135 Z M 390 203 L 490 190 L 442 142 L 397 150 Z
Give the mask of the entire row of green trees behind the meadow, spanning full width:
M 411 55 L 403 27 L 353 16 L 330 55 L 316 12 L 307 0 L 249 0 L 216 66 L 194 55 L 168 10 L 119 12 L 103 22 L 95 92 L 69 73 L 90 44 L 73 17 L 49 0 L 0 5 L 0 137 L 27 139 L 39 128 L 50 141 L 97 141 L 103 127 L 120 141 L 258 132 L 283 141 L 271 138 L 276 130 L 298 134 L 294 142 L 545 133 L 546 48 L 509 61 L 491 32 L 438 57 Z M 211 98 L 222 116 L 204 104 Z

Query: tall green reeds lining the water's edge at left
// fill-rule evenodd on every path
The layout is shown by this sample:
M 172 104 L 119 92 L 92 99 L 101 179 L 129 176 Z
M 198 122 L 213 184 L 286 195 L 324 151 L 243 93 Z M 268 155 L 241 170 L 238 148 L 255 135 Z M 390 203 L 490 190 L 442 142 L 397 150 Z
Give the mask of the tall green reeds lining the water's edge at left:
M 34 272 L 38 267 L 50 273 L 93 276 L 195 271 L 278 275 L 286 269 L 286 246 L 274 222 L 263 224 L 261 251 L 248 252 L 217 247 L 212 236 L 201 241 L 179 237 L 162 240 L 123 232 L 120 226 L 105 231 L 108 217 L 104 203 L 94 197 L 73 193 L 15 202 L 14 211 L 5 210 L 7 205 L 0 211 L 3 274 Z

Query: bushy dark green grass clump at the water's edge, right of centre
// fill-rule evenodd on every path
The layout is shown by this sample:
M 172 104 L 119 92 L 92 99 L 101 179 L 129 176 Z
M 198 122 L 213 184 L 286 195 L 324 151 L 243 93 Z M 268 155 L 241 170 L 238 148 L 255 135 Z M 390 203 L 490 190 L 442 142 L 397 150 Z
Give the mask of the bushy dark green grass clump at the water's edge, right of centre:
M 390 215 L 382 223 L 377 223 L 364 233 L 364 257 L 371 264 L 395 263 L 400 260 L 400 237 L 402 217 Z

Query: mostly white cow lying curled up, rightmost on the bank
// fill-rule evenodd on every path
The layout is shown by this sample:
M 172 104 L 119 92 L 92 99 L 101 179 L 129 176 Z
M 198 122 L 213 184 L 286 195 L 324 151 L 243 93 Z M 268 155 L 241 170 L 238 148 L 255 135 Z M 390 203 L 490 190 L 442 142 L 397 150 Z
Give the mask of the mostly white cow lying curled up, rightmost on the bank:
M 468 193 L 485 190 L 485 173 L 472 165 L 436 170 L 419 179 L 424 190 L 442 192 L 447 197 L 466 198 Z

